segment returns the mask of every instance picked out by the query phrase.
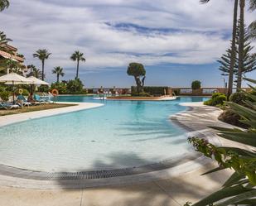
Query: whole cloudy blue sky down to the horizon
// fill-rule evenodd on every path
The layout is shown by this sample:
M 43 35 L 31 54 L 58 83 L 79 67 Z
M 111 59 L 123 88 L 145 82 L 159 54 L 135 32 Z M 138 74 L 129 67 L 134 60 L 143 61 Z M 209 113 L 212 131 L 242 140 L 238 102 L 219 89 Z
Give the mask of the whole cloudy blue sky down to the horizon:
M 64 68 L 61 79 L 75 78 L 70 55 L 80 50 L 85 87 L 130 87 L 130 62 L 145 66 L 147 85 L 190 87 L 198 79 L 203 87 L 217 87 L 224 80 L 216 60 L 229 47 L 233 7 L 232 0 L 12 0 L 0 13 L 0 31 L 27 65 L 41 68 L 32 56 L 38 49 L 52 53 L 49 82 L 56 81 L 55 66 Z M 255 13 L 245 12 L 248 25 Z M 249 77 L 256 79 L 256 72 Z

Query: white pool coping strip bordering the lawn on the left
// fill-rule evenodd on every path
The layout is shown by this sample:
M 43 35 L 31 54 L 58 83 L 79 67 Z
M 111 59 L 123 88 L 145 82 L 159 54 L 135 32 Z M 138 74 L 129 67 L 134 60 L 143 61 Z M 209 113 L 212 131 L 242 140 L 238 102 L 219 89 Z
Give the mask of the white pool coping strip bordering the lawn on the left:
M 23 122 L 31 119 L 50 117 L 63 113 L 73 113 L 80 110 L 85 110 L 89 108 L 99 108 L 104 106 L 103 103 L 70 103 L 70 102 L 58 102 L 59 104 L 75 104 L 75 106 L 65 107 L 65 108 L 51 108 L 41 111 L 28 112 L 28 113 L 17 113 L 0 117 L 0 127 L 6 126 L 8 124 L 13 124 L 17 122 Z

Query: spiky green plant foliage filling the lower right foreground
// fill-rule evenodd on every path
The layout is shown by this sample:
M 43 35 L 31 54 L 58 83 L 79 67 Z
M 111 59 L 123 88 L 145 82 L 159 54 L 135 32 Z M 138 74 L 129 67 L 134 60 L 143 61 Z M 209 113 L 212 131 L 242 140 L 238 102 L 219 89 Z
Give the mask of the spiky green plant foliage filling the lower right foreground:
M 256 84 L 255 80 L 247 80 Z M 256 91 L 254 87 L 250 87 Z M 256 95 L 243 93 L 248 96 L 248 100 L 244 101 L 247 107 L 232 102 L 227 103 L 227 105 L 234 113 L 242 117 L 240 122 L 248 125 L 249 128 L 244 130 L 212 128 L 218 131 L 220 137 L 242 143 L 244 146 L 248 146 L 247 149 L 245 147 L 215 146 L 205 139 L 189 138 L 196 151 L 215 159 L 219 164 L 217 168 L 206 172 L 204 175 L 228 168 L 234 170 L 233 175 L 229 177 L 219 191 L 201 199 L 196 204 L 192 204 L 193 206 L 256 205 L 256 151 L 254 150 L 256 146 Z

